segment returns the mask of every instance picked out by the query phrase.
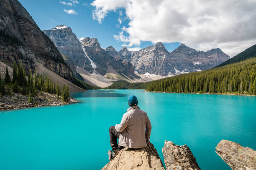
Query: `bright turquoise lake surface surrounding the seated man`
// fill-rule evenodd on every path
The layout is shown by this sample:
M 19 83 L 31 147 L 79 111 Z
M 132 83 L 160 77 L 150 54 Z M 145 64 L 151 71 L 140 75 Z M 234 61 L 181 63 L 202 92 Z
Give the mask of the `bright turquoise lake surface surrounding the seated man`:
M 108 128 L 120 123 L 128 95 L 151 120 L 151 143 L 187 144 L 202 170 L 230 170 L 215 153 L 221 139 L 256 150 L 256 97 L 88 90 L 80 103 L 0 112 L 0 170 L 100 170 Z

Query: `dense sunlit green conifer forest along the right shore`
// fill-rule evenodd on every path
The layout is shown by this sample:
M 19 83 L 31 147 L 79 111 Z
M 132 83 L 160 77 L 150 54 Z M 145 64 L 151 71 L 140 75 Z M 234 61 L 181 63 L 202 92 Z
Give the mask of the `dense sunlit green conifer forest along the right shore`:
M 147 91 L 177 93 L 246 93 L 256 95 L 256 57 L 202 72 L 152 81 Z

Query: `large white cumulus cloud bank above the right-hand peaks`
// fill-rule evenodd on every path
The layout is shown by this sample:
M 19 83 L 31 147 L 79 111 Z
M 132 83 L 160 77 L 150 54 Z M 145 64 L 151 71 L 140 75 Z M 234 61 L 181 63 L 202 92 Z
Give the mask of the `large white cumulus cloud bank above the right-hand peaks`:
M 256 43 L 255 0 L 94 0 L 91 5 L 99 23 L 110 11 L 124 9 L 128 27 L 114 37 L 128 47 L 182 42 L 197 50 L 219 47 L 233 57 Z

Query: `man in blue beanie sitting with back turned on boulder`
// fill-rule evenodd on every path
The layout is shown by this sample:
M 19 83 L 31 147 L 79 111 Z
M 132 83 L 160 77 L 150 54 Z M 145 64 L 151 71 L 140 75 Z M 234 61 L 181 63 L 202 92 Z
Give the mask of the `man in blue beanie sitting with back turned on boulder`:
M 151 122 L 147 113 L 138 107 L 138 100 L 134 95 L 128 97 L 128 105 L 130 108 L 123 114 L 121 123 L 109 128 L 113 152 L 108 151 L 108 160 L 115 158 L 115 155 L 124 147 L 139 149 L 147 147 L 149 142 Z

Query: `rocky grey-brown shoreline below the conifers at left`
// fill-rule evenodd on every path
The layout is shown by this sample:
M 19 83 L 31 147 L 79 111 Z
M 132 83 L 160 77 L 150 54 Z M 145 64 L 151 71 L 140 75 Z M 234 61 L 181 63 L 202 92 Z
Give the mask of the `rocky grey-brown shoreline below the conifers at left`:
M 28 95 L 11 93 L 10 95 L 0 95 L 0 111 L 17 110 L 28 107 L 67 105 L 77 102 L 78 100 L 72 97 L 69 98 L 69 102 L 62 102 L 61 96 L 57 97 L 57 95 L 46 92 L 38 92 L 38 95 L 33 97 L 33 102 L 28 103 Z

